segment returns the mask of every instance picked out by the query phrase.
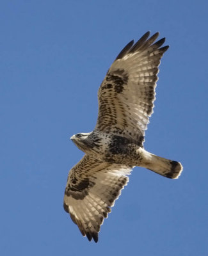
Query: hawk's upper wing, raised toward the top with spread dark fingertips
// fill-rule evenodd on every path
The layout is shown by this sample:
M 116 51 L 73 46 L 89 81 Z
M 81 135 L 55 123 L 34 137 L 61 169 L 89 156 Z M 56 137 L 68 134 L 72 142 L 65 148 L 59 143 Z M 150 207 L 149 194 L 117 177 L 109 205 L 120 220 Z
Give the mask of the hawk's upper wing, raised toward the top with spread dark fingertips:
M 127 44 L 109 68 L 98 92 L 95 127 L 122 134 L 140 146 L 154 108 L 160 60 L 168 49 L 161 47 L 165 38 L 154 44 L 159 33 L 148 39 L 149 35 L 147 32 L 136 44 Z

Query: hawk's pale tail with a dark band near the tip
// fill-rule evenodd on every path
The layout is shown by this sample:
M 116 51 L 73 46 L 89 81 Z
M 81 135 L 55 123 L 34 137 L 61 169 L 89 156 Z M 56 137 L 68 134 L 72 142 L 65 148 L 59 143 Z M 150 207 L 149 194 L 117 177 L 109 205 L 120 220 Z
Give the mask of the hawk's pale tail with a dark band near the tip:
M 150 154 L 147 151 L 145 151 L 144 160 L 145 164 L 140 166 L 170 179 L 178 179 L 183 169 L 181 163 Z

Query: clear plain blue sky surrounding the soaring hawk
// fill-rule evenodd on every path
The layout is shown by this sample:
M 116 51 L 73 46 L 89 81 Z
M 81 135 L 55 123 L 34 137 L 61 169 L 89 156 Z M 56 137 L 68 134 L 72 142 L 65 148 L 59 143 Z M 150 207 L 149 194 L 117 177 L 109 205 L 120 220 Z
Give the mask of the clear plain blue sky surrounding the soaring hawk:
M 1 1 L 1 255 L 208 255 L 207 1 Z M 150 30 L 170 45 L 145 148 L 180 161 L 178 180 L 135 168 L 88 242 L 63 210 L 69 140 L 97 120 L 118 52 Z

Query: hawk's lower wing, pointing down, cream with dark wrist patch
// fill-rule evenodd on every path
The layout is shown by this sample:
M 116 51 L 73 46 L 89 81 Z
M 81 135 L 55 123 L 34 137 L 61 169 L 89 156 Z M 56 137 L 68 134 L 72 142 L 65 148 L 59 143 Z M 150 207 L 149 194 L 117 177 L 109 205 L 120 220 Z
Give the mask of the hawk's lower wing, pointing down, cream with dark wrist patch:
M 128 182 L 131 167 L 104 163 L 85 155 L 70 170 L 63 207 L 81 234 L 98 241 L 100 225 Z

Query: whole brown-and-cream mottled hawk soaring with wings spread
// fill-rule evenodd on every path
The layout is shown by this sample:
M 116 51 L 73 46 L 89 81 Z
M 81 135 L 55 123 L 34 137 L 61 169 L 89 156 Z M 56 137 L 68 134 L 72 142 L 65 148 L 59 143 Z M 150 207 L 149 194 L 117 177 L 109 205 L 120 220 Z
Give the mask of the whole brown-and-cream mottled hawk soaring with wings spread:
M 85 155 L 69 172 L 63 207 L 81 234 L 97 243 L 100 225 L 108 217 L 134 166 L 177 179 L 182 165 L 147 152 L 145 130 L 154 108 L 157 73 L 168 46 L 159 33 L 145 33 L 118 54 L 98 92 L 95 129 L 70 139 Z

